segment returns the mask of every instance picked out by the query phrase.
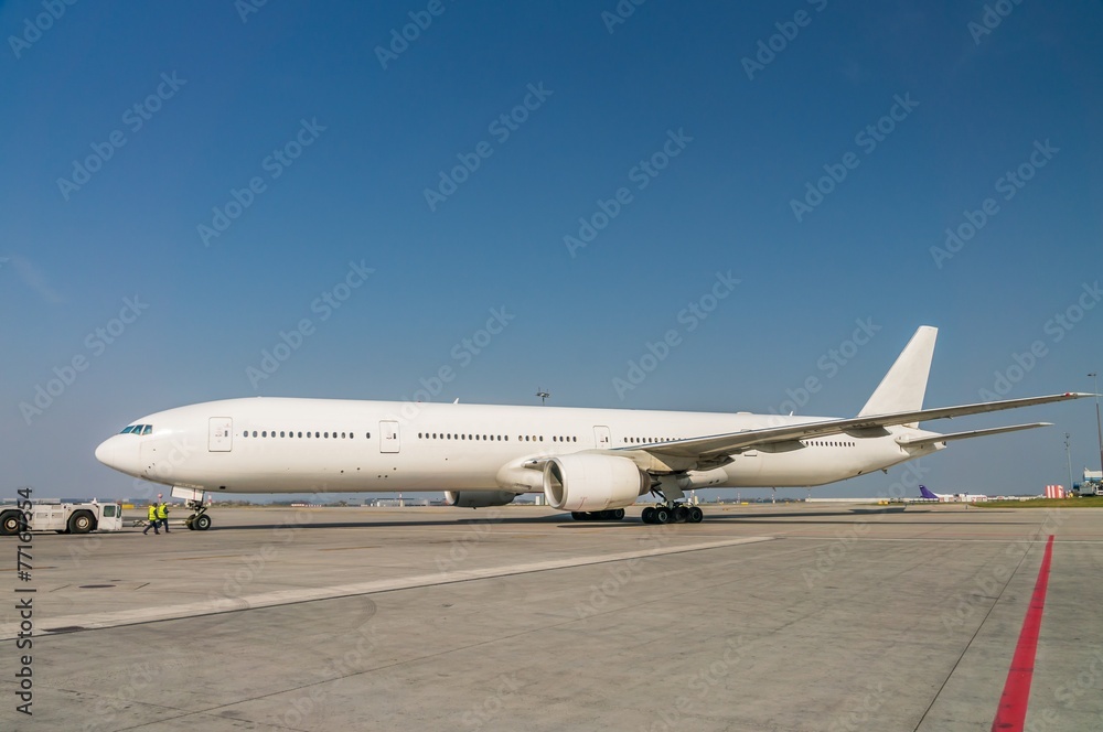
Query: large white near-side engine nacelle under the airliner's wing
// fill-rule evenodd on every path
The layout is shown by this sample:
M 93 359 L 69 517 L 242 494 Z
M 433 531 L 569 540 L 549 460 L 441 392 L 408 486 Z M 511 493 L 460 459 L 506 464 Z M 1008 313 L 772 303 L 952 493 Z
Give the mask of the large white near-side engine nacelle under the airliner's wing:
M 544 465 L 544 495 L 560 510 L 631 506 L 651 489 L 651 476 L 628 458 L 560 455 Z

